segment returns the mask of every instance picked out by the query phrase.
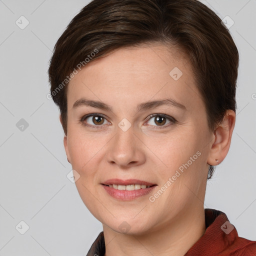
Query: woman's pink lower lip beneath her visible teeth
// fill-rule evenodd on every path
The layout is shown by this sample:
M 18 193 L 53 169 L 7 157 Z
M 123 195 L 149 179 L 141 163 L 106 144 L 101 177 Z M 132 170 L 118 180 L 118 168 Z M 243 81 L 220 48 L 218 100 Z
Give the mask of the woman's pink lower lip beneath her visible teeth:
M 147 188 L 140 188 L 135 190 L 118 190 L 113 187 L 109 187 L 107 185 L 103 185 L 103 184 L 101 185 L 108 192 L 108 194 L 110 194 L 112 197 L 116 199 L 121 199 L 121 200 L 132 200 L 139 196 L 146 195 L 150 193 L 156 186 L 156 185 L 153 185 Z

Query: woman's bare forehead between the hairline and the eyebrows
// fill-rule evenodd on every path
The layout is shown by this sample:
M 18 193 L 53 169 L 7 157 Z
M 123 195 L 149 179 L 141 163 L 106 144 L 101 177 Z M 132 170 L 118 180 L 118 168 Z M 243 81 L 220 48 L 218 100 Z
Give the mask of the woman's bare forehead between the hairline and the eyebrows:
M 110 105 L 113 100 L 130 105 L 170 96 L 189 106 L 192 94 L 200 100 L 187 58 L 160 44 L 119 48 L 92 60 L 67 87 L 68 108 L 82 95 Z

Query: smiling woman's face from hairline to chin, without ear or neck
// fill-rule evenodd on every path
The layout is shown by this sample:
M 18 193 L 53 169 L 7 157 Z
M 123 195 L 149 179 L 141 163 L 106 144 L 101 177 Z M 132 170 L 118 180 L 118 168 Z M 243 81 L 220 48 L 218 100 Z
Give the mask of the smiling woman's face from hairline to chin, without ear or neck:
M 87 63 L 68 84 L 67 108 L 64 145 L 75 184 L 104 225 L 143 233 L 203 207 L 214 135 L 178 51 L 121 48 Z M 116 188 L 109 179 L 153 186 L 109 181 Z

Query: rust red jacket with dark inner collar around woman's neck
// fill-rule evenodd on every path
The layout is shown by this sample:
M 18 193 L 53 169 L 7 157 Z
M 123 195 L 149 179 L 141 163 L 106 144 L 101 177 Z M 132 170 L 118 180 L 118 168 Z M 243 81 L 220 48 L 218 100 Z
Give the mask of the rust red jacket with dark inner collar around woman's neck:
M 184 256 L 256 256 L 256 241 L 239 237 L 225 213 L 204 209 L 205 233 Z M 104 256 L 104 233 L 101 231 L 86 256 Z

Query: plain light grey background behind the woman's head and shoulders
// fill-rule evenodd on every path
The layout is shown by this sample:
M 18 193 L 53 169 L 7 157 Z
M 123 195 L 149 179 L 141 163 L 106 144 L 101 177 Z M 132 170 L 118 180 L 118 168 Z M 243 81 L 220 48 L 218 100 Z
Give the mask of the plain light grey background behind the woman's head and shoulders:
M 240 54 L 231 146 L 208 181 L 204 207 L 224 211 L 240 236 L 256 240 L 256 0 L 202 2 L 234 21 L 229 30 Z M 66 177 L 58 109 L 46 98 L 53 46 L 87 3 L 0 0 L 1 256 L 86 255 L 102 230 Z M 29 21 L 24 29 L 15 23 L 21 15 Z M 15 228 L 21 220 L 29 226 L 24 234 Z

